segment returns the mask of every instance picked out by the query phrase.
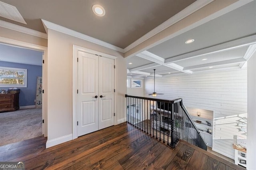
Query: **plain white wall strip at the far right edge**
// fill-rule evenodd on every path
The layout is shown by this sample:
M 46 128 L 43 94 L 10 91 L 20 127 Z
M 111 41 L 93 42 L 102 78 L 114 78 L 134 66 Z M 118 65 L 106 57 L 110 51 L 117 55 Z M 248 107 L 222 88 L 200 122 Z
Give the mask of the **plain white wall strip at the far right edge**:
M 248 61 L 247 169 L 256 168 L 256 53 Z

